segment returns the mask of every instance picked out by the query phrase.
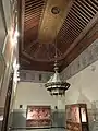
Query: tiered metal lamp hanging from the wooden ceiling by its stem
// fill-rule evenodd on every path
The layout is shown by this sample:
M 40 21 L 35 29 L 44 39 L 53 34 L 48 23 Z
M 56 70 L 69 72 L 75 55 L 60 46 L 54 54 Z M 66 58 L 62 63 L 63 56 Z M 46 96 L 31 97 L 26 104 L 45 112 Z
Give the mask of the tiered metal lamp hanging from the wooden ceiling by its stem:
M 70 87 L 68 82 L 61 80 L 59 74 L 59 67 L 57 62 L 57 48 L 56 48 L 56 61 L 54 61 L 54 74 L 45 84 L 45 87 L 52 96 L 63 96 L 65 91 Z

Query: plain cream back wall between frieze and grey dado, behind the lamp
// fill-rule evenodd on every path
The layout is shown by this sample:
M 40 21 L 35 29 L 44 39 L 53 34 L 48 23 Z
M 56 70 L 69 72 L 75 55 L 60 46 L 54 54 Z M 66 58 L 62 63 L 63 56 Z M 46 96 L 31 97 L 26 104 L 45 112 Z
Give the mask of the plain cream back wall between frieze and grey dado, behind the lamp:
M 57 99 L 49 95 L 44 83 L 19 82 L 13 109 L 19 109 L 23 105 L 57 105 Z

